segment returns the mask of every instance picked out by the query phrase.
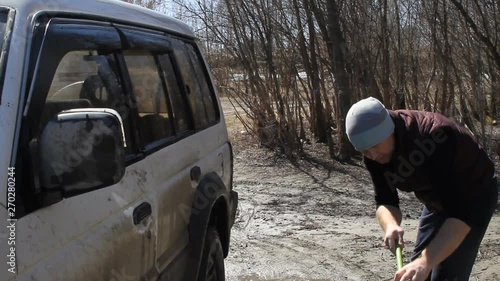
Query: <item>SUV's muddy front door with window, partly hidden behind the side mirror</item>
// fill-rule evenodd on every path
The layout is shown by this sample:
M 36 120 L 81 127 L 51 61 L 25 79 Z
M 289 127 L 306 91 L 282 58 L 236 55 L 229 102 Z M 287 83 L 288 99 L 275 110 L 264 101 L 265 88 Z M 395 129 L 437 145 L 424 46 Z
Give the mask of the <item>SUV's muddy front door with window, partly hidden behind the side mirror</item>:
M 86 20 L 52 19 L 38 30 L 43 43 L 32 55 L 16 169 L 25 179 L 19 185 L 25 215 L 17 222 L 17 280 L 155 280 L 156 202 L 146 196 L 150 167 L 140 161 L 130 129 L 134 109 L 119 71 L 120 36 L 110 24 Z M 37 138 L 61 110 L 85 107 L 120 113 L 129 160 L 125 176 L 112 186 L 41 207 Z M 78 149 L 53 168 L 71 168 Z

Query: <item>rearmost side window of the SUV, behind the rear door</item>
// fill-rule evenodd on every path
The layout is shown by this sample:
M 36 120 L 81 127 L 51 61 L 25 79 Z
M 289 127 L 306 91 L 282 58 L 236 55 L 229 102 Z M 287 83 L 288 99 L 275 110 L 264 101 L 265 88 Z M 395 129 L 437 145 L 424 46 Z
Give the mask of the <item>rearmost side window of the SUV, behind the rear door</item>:
M 202 69 L 202 60 L 192 45 L 173 39 L 174 54 L 188 93 L 197 128 L 205 128 L 216 121 L 213 93 Z

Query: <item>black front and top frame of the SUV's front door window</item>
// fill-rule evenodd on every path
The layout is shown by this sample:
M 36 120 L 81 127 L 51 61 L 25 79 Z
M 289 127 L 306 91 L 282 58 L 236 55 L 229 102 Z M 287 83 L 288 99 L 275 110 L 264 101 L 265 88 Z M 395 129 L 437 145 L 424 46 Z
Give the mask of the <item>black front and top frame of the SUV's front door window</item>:
M 33 141 L 39 136 L 38 125 L 61 59 L 75 50 L 113 53 L 120 51 L 122 46 L 116 29 L 106 22 L 54 17 L 41 18 L 35 27 L 26 73 L 28 86 L 25 89 L 22 122 L 15 153 L 16 170 L 21 173 L 20 178 L 23 179 L 19 183 L 23 188 L 16 190 L 19 192 L 16 198 L 19 199 L 20 217 L 40 208 L 37 199 L 40 192 L 37 182 L 39 168 L 36 166 L 39 148 Z M 65 41 L 64 44 L 60 43 L 61 40 Z M 122 94 L 126 95 L 126 91 Z M 126 160 L 127 165 L 132 163 L 129 159 Z

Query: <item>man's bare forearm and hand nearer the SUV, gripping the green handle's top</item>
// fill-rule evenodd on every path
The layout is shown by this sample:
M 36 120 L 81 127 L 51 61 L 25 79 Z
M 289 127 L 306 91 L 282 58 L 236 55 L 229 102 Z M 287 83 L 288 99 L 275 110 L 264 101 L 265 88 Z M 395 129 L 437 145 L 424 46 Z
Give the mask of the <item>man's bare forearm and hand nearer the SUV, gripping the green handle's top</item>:
M 404 230 L 401 227 L 402 214 L 398 207 L 391 205 L 380 205 L 376 211 L 377 221 L 385 233 L 385 245 L 391 250 L 396 251 L 396 241 L 404 245 Z

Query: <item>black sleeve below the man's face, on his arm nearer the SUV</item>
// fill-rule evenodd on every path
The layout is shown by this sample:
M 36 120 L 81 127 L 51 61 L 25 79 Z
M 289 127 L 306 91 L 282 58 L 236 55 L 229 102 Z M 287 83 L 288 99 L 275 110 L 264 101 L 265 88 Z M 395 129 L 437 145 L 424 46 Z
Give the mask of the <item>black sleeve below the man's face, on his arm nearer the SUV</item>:
M 397 189 L 389 184 L 387 171 L 381 164 L 364 157 L 364 162 L 368 172 L 370 172 L 373 186 L 375 188 L 375 203 L 377 208 L 380 205 L 390 205 L 399 208 L 399 196 Z

